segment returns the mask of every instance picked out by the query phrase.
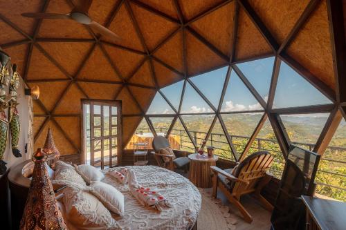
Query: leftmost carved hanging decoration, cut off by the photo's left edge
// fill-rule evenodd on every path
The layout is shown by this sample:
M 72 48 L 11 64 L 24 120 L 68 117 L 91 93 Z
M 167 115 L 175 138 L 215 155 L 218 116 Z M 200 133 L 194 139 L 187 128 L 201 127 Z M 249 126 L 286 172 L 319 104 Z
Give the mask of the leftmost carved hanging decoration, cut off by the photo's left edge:
M 10 83 L 10 57 L 2 51 L 0 51 L 0 67 L 0 174 L 3 174 L 7 170 L 3 153 L 6 151 L 8 140 L 8 119 L 6 117 L 8 96 L 6 95 L 6 87 Z

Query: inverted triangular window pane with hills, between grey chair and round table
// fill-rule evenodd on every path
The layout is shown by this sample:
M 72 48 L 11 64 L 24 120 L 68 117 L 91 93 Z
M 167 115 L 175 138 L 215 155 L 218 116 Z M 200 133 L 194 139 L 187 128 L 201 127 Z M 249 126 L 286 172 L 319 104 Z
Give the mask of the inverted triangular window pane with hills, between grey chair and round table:
M 185 115 L 181 116 L 186 128 L 190 132 L 192 139 L 200 147 L 203 140 L 206 139 L 206 135 L 209 131 L 212 119 L 215 115 Z

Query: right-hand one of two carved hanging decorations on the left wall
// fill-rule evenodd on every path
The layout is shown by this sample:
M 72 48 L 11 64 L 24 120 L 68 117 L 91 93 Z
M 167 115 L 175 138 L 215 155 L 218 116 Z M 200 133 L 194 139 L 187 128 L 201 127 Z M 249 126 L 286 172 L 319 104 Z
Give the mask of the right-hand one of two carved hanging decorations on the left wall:
M 19 133 L 21 130 L 19 122 L 19 113 L 17 110 L 17 89 L 19 88 L 19 73 L 17 72 L 17 65 L 13 65 L 13 75 L 10 82 L 10 102 L 9 102 L 9 122 L 11 134 L 12 153 L 15 157 L 21 157 L 21 152 L 18 149 Z

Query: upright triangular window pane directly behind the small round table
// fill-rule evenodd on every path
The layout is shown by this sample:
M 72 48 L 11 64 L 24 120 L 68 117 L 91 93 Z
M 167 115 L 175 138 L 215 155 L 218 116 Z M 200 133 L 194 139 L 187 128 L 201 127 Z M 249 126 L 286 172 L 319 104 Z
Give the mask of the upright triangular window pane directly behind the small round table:
M 230 145 L 227 142 L 226 135 L 221 127 L 219 119 L 217 119 L 214 128 L 212 128 L 206 146 L 214 147 L 214 153 L 219 157 L 235 161 L 235 157 L 233 157 L 232 151 L 230 150 Z

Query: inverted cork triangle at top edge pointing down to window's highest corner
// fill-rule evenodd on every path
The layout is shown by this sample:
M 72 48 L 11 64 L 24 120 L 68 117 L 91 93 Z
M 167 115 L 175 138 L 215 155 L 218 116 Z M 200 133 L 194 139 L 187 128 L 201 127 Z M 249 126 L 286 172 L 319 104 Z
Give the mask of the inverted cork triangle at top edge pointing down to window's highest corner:
M 276 41 L 282 44 L 304 12 L 309 0 L 251 0 L 249 3 Z

